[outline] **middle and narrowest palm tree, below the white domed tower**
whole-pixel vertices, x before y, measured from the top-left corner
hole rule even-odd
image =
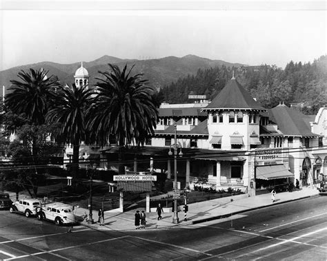
[[[92,90],[87,85],[77,88],[63,87],[57,90],[54,104],[46,117],[47,123],[60,123],[60,134],[73,146],[72,176],[77,178],[79,169],[79,146],[88,140],[86,135],[86,109],[92,104]]]

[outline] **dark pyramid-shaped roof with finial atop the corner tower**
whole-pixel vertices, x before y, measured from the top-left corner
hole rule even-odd
[[[213,109],[266,110],[235,79],[231,79],[212,102],[203,108],[204,111]]]

